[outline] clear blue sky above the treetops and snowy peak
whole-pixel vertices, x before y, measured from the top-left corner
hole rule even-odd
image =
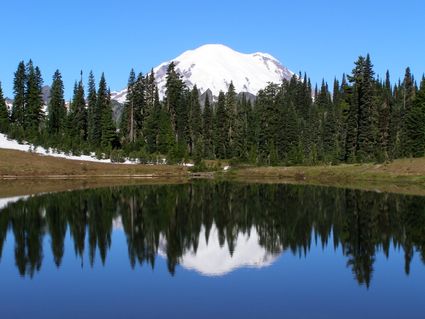
[[[313,82],[350,72],[370,53],[392,79],[425,72],[423,0],[3,0],[0,80],[12,95],[20,60],[33,59],[46,84],[59,68],[67,98],[83,70],[105,72],[122,89],[131,67],[146,72],[206,43],[263,51]]]

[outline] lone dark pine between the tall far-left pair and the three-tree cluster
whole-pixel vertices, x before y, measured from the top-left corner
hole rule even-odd
[[[64,129],[66,121],[64,85],[59,70],[56,70],[53,75],[48,110],[47,132],[52,135],[57,135]]]

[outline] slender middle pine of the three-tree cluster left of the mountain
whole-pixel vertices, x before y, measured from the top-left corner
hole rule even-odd
[[[87,96],[87,140],[90,145],[98,145],[98,127],[100,125],[97,111],[96,83],[90,71]]]

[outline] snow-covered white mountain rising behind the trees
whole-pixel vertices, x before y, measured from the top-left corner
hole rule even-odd
[[[176,71],[189,88],[196,84],[201,94],[209,89],[213,96],[218,96],[220,91],[226,92],[230,82],[236,92],[256,95],[269,82],[280,83],[293,75],[270,54],[245,54],[225,45],[207,44],[154,68],[161,98],[165,95],[166,72],[171,62],[176,64]],[[123,103],[126,94],[126,89],[113,92],[112,99]]]

